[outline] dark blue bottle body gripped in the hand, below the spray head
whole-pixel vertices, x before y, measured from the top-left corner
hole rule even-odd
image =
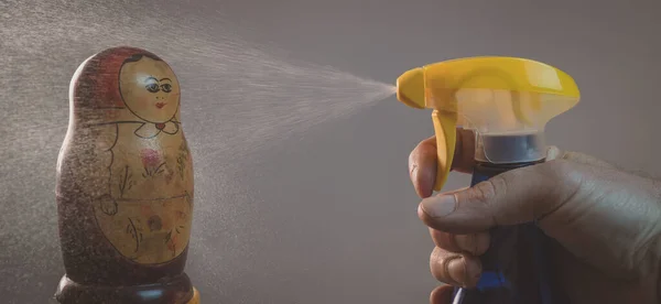
[[[470,186],[537,163],[478,163]],[[490,239],[489,249],[480,257],[483,274],[477,286],[455,289],[453,304],[570,304],[550,271],[548,253],[554,240],[537,222],[492,228]]]

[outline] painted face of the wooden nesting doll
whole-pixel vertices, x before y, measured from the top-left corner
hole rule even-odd
[[[127,59],[119,72],[119,90],[129,110],[144,121],[166,122],[178,110],[178,82],[163,61],[143,55]]]

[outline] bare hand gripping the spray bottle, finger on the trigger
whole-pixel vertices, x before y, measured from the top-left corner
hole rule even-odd
[[[453,171],[472,171],[474,146],[473,134],[457,130]],[[409,170],[423,198],[418,214],[436,245],[430,259],[433,275],[451,285],[475,286],[489,228],[537,219],[562,246],[551,259],[572,303],[661,303],[661,183],[556,148],[546,160],[431,197],[435,139],[413,150]],[[434,290],[431,303],[451,303],[451,285]]]

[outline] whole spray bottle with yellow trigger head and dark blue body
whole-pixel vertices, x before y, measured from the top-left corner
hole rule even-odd
[[[572,77],[550,65],[512,57],[462,58],[414,68],[397,80],[397,97],[434,109],[438,170],[435,191],[449,174],[456,128],[475,133],[472,186],[502,172],[543,162],[544,127],[579,100]],[[455,304],[570,303],[551,275],[552,239],[535,222],[491,231],[475,289],[456,289]]]

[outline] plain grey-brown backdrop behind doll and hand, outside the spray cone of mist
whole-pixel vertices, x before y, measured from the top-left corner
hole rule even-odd
[[[387,83],[411,67],[453,57],[511,55],[551,63],[576,78],[583,100],[549,124],[549,141],[661,173],[659,1],[126,2],[134,26],[150,7],[181,20],[220,13],[247,40]],[[26,39],[18,33],[30,31],[31,18],[57,18],[57,10],[39,11],[44,6],[29,1],[0,3],[0,116],[10,121],[0,127],[7,142],[0,149],[0,297],[43,303],[63,274],[53,176],[66,120],[54,117],[66,118],[66,86],[75,67],[105,45],[71,35]],[[52,1],[68,15],[110,6],[80,3]],[[178,26],[176,20],[165,15],[161,22]],[[213,36],[230,29],[218,26],[199,31]],[[124,41],[104,43],[115,42]],[[186,69],[176,52],[152,51],[175,70]],[[195,93],[189,95],[195,100]],[[203,142],[204,112],[186,109],[185,101],[183,107],[187,138]],[[391,97],[343,122],[232,161],[235,166],[223,158],[196,160],[199,207],[187,273],[203,302],[425,303],[436,285],[427,263],[433,245],[415,216],[419,198],[407,158],[432,132],[429,112]],[[467,182],[455,174],[447,188]]]

